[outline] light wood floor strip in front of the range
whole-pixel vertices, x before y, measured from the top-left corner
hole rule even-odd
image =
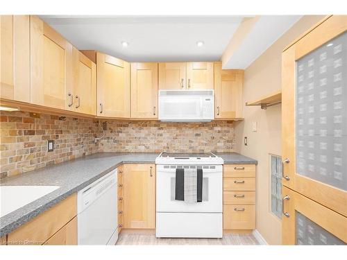
[[[223,239],[157,239],[153,231],[122,230],[116,245],[259,245],[252,233],[223,234]]]

